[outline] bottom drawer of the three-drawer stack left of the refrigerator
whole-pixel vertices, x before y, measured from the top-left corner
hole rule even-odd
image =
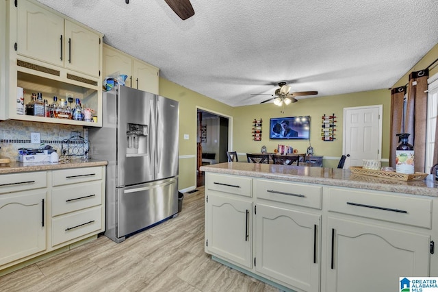
[[[52,219],[52,246],[102,228],[102,208],[96,206]]]

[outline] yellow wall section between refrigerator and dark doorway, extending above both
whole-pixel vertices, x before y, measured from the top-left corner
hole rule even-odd
[[[179,101],[179,190],[196,186],[196,109],[203,108],[233,116],[233,108],[195,93],[188,88],[159,78],[159,95]],[[184,134],[189,135],[184,140]]]

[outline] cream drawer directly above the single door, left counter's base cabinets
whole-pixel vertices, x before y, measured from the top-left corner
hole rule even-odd
[[[47,186],[47,172],[37,171],[28,173],[11,173],[0,175],[0,193],[45,188]]]

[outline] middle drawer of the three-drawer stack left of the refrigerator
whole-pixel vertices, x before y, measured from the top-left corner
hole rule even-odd
[[[102,182],[58,186],[52,191],[52,216],[102,204]]]

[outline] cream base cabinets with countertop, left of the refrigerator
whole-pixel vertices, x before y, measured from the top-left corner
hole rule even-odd
[[[0,165],[0,276],[105,230],[106,161]]]

